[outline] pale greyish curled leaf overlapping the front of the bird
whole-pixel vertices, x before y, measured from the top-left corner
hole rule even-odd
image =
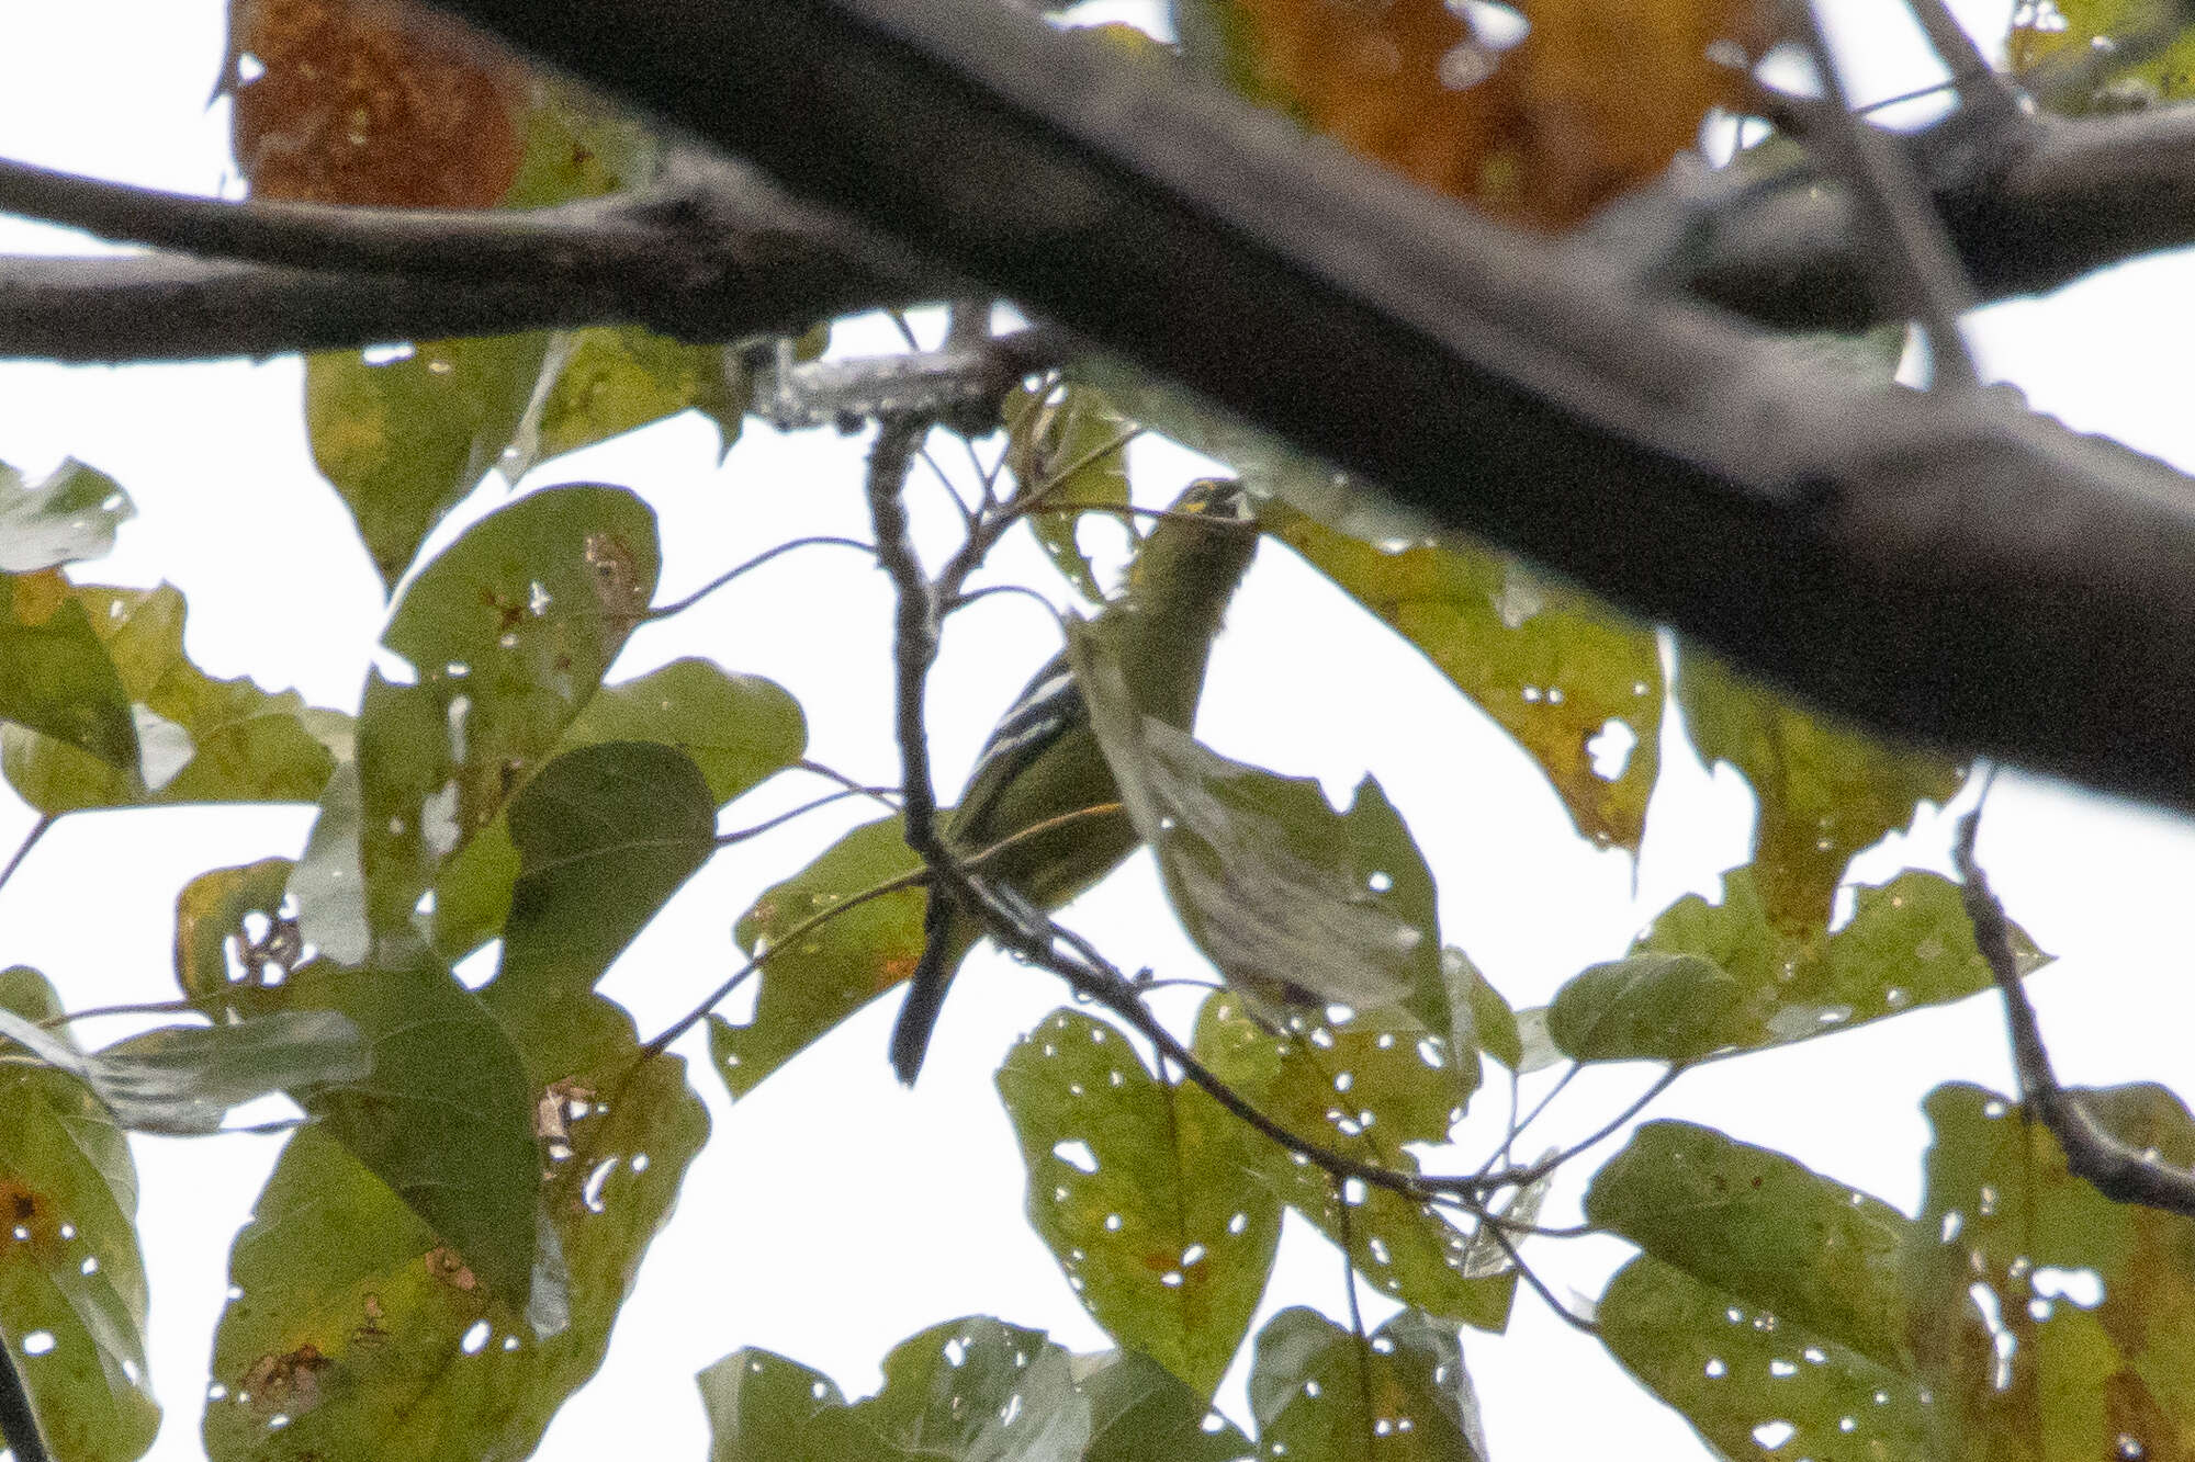
[[[1071,623],[1067,648],[1122,806],[1183,929],[1229,983],[1357,1008],[1422,994],[1427,968],[1440,983],[1438,931],[1405,909],[1418,891],[1363,856],[1396,823],[1370,777],[1337,814],[1315,779],[1231,762],[1141,713],[1102,623]]]

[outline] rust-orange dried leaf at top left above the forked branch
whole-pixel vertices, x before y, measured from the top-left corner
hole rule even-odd
[[[237,167],[259,198],[485,209],[522,154],[525,72],[389,0],[230,0]]]

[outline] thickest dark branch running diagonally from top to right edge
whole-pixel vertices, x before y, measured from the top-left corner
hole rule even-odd
[[[2162,463],[1780,360],[988,0],[443,4],[1828,709],[2195,806]]]

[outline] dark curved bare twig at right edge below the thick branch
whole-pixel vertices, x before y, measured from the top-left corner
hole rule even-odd
[[[2195,1172],[2166,1168],[2155,1157],[2127,1146],[2096,1122],[2079,1091],[2059,1084],[2050,1065],[2050,1047],[2044,1045],[2041,1023],[2035,1019],[2035,1005],[2019,983],[2019,961],[2013,957],[2004,904],[1989,891],[1989,878],[1973,861],[1980,819],[1982,812],[1975,808],[1958,821],[1951,861],[1965,880],[1973,942],[1989,961],[1989,975],[2004,997],[2004,1025],[2013,1045],[2013,1069],[2019,1073],[2019,1100],[2057,1137],[2065,1150],[2065,1168],[2094,1183],[2105,1199],[2195,1216]]]

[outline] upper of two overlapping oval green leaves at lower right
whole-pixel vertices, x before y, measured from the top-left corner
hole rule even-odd
[[[1585,1218],[1749,1306],[1905,1365],[1912,1221],[1782,1152],[1646,1122],[1594,1174]]]

